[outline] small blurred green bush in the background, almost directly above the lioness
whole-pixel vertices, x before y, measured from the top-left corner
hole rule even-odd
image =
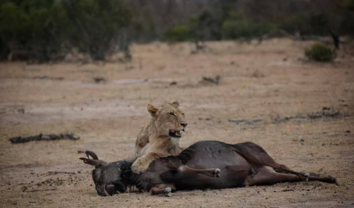
[[[193,40],[193,35],[188,26],[180,24],[170,30],[167,30],[165,33],[165,38],[169,41],[189,41]]]

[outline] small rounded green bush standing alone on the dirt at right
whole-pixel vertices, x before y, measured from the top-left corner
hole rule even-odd
[[[315,61],[332,61],[336,53],[329,47],[316,43],[310,49],[305,50],[305,55]]]

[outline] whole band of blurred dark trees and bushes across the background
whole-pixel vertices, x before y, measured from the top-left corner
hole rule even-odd
[[[354,35],[354,0],[0,0],[0,59],[92,60],[129,44]]]

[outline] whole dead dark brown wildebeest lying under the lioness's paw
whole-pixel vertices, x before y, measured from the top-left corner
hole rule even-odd
[[[103,196],[122,192],[131,185],[158,194],[171,190],[225,189],[299,180],[336,183],[336,178],[331,176],[295,172],[278,164],[252,142],[234,145],[220,141],[196,142],[178,156],[155,159],[142,174],[132,173],[130,163],[126,161],[105,163],[97,156],[80,159],[96,166],[92,176],[97,193]]]

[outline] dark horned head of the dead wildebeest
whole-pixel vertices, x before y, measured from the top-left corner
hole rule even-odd
[[[81,157],[84,163],[94,165],[92,179],[95,182],[97,194],[100,196],[113,195],[125,192],[129,183],[128,175],[131,174],[130,166],[132,163],[127,161],[116,161],[106,163],[98,159],[92,151],[85,151],[87,158]],[[93,159],[90,159],[91,156]]]

